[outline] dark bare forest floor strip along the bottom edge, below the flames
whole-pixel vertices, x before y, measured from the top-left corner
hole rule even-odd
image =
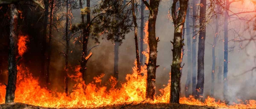
[[[39,106],[27,105],[22,103],[11,103],[11,104],[1,104],[0,109],[56,109],[56,108],[42,108]],[[61,108],[65,109],[65,108]],[[76,108],[71,108],[76,109]],[[214,108],[208,106],[195,106],[186,104],[123,104],[123,105],[111,105],[103,106],[98,108],[79,108],[79,109],[223,109]]]

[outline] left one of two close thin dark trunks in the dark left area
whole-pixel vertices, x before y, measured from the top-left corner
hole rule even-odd
[[[44,12],[44,30],[42,39],[42,51],[41,51],[41,80],[45,83],[45,51],[46,51],[46,33],[47,33],[47,23],[48,23],[48,3],[49,0],[44,0],[45,12]]]

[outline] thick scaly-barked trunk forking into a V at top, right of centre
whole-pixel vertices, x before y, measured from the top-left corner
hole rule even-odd
[[[180,10],[176,13],[177,2],[180,1]],[[180,78],[181,78],[181,49],[184,45],[182,43],[182,31],[184,28],[186,13],[188,7],[188,0],[173,0],[172,18],[174,23],[174,39],[173,39],[173,62],[171,69],[171,94],[170,103],[180,103]]]

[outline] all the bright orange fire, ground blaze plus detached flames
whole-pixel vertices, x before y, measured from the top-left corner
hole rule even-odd
[[[145,30],[146,29],[147,28],[145,28]],[[145,33],[146,32],[147,31],[145,31]],[[19,46],[23,47],[19,49],[19,53],[22,51],[25,52],[26,42],[28,42],[28,40],[19,40],[19,42],[25,42],[21,44],[24,46]],[[74,70],[76,74],[68,75],[72,81],[76,81],[76,84],[73,87],[72,93],[66,96],[64,92],[50,91],[47,88],[41,88],[38,79],[34,78],[32,73],[30,73],[30,69],[26,68],[24,65],[19,65],[17,66],[18,74],[15,102],[50,108],[95,108],[106,105],[124,104],[127,102],[138,104],[145,100],[145,102],[148,103],[169,103],[171,80],[169,80],[165,88],[160,90],[161,94],[157,96],[154,101],[149,101],[145,98],[147,66],[141,66],[141,73],[144,73],[144,76],[138,74],[135,66],[132,68],[133,73],[127,74],[125,77],[126,82],[121,84],[121,88],[119,89],[115,88],[117,80],[114,77],[110,77],[108,81],[108,84],[111,86],[110,89],[107,89],[106,86],[101,86],[100,84],[104,74],[94,77],[94,81],[88,85],[84,84],[82,73],[79,72],[80,66],[76,66]],[[0,104],[3,104],[5,101],[5,88],[5,85],[0,84]],[[245,102],[241,100],[238,101],[240,104],[233,103],[233,105],[226,105],[225,102],[221,102],[220,100],[216,101],[215,98],[211,97],[207,97],[204,102],[196,100],[192,96],[180,98],[181,104],[188,105],[234,109],[256,108],[255,100]]]

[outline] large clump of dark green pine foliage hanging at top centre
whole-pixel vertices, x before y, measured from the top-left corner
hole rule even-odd
[[[101,37],[121,45],[133,24],[131,9],[128,8],[124,7],[123,0],[101,0],[93,10],[96,16],[92,23],[92,38],[97,43]]]

